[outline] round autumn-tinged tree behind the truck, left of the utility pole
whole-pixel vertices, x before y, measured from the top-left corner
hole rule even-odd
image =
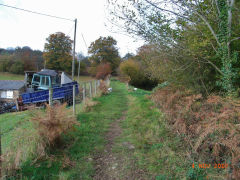
[[[51,34],[46,40],[43,53],[46,67],[71,72],[73,41],[70,37],[62,32],[57,32]]]

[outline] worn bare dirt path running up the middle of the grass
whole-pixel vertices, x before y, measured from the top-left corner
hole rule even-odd
[[[115,140],[121,135],[122,128],[120,122],[126,118],[126,113],[120,119],[113,122],[107,132],[105,139],[107,144],[103,153],[98,154],[94,158],[96,174],[93,177],[95,180],[141,180],[144,178],[144,172],[136,168],[134,160],[131,158],[131,152],[134,151],[134,146],[129,142],[123,142],[120,144],[123,148],[129,151],[129,154],[123,154],[114,152],[114,146],[119,148],[119,144],[116,145]]]

